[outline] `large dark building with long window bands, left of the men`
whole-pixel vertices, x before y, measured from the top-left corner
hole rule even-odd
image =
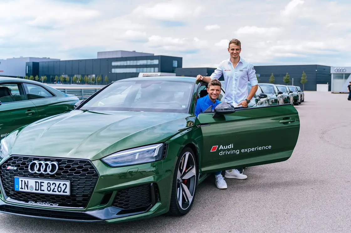
[[[124,54],[127,56],[122,57]],[[83,80],[85,76],[90,80],[101,76],[102,80],[98,84],[106,84],[120,79],[138,77],[139,73],[142,72],[155,73],[155,75],[161,72],[174,73],[175,75],[176,69],[183,65],[181,57],[155,56],[153,54],[145,56],[144,53],[134,51],[99,52],[99,57],[95,59],[28,62],[26,75],[28,77],[31,75],[46,76],[46,83],[54,83],[56,76],[69,77],[70,81],[64,81],[64,83],[73,83],[74,76],[81,78],[80,83],[85,83]],[[105,82],[106,76],[107,82]]]

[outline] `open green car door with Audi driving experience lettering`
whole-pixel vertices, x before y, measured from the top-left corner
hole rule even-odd
[[[203,172],[285,161],[296,146],[300,120],[290,104],[247,108],[213,118],[198,116]]]

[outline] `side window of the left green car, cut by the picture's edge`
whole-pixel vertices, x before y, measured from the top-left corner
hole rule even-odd
[[[2,104],[26,100],[21,84],[0,84],[0,101]]]

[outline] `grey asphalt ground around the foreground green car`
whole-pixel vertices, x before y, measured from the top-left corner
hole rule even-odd
[[[247,168],[248,178],[226,179],[226,190],[207,178],[186,216],[108,225],[0,213],[0,232],[350,232],[351,101],[305,92],[296,109],[301,128],[289,160]]]

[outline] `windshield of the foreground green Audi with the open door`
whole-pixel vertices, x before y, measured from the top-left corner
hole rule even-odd
[[[188,113],[193,86],[163,80],[115,82],[80,109]]]

